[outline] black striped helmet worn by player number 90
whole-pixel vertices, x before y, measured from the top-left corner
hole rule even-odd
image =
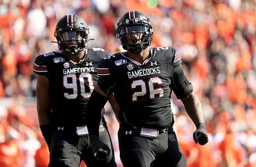
[[[76,57],[88,47],[88,34],[86,22],[75,14],[69,14],[58,21],[54,36],[60,51]]]

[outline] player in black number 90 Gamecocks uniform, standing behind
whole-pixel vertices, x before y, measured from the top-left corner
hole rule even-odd
[[[78,167],[81,160],[88,167],[116,166],[103,106],[98,132],[108,148],[102,150],[104,159],[100,151],[93,155],[90,147],[94,141],[88,136],[86,106],[99,78],[97,64],[110,53],[100,48],[88,49],[88,34],[87,23],[81,17],[63,16],[54,33],[60,52],[39,55],[34,62],[38,121],[50,151],[49,166]],[[115,102],[113,98],[110,101]]]

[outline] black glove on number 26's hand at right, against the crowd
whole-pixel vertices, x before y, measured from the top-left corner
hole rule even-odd
[[[199,145],[203,146],[209,141],[205,124],[199,123],[196,125],[196,127],[197,130],[193,133],[194,141],[196,142],[196,144],[199,143]]]

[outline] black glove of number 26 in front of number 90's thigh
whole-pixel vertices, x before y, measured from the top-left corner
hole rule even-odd
[[[96,135],[90,135],[90,145],[93,151],[93,155],[98,160],[104,160],[110,155],[110,148],[99,140]]]

